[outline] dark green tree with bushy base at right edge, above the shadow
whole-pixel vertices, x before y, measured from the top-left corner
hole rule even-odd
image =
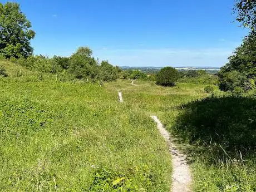
[[[244,91],[255,88],[256,77],[256,34],[254,31],[245,37],[242,45],[236,48],[229,62],[221,67],[220,89],[232,91],[235,87],[243,88]]]

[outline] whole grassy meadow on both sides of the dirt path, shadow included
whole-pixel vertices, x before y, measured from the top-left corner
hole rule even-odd
[[[206,93],[200,81],[100,86],[0,65],[0,191],[169,191],[171,157],[151,115],[189,154],[193,191],[256,191],[253,97],[215,83]]]

